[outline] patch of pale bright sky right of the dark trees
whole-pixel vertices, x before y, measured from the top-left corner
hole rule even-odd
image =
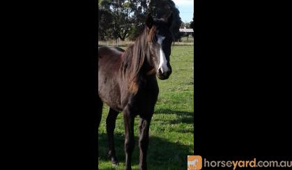
[[[194,13],[194,0],[172,0],[180,11],[180,18],[183,22],[191,22]]]

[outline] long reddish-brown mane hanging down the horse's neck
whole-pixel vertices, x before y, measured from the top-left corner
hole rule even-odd
[[[154,25],[151,29],[146,27],[135,43],[123,53],[121,72],[123,77],[128,80],[128,90],[131,93],[136,94],[138,91],[141,68],[146,57],[150,55],[148,42],[155,42],[155,31],[156,26]]]

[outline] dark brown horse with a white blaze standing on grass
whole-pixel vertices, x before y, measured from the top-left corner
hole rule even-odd
[[[118,165],[114,147],[116,117],[123,111],[125,127],[125,169],[131,168],[135,147],[134,120],[139,115],[139,169],[147,169],[149,126],[157,102],[159,79],[171,75],[169,56],[172,33],[169,30],[172,13],[165,18],[146,15],[144,31],[133,45],[123,50],[118,47],[98,48],[98,127],[102,105],[109,106],[106,120],[109,152],[113,165]]]

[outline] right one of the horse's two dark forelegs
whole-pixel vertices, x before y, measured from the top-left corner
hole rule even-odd
[[[139,148],[140,148],[140,160],[139,167],[140,170],[147,169],[147,150],[149,144],[149,127],[151,118],[140,118],[139,123]]]

